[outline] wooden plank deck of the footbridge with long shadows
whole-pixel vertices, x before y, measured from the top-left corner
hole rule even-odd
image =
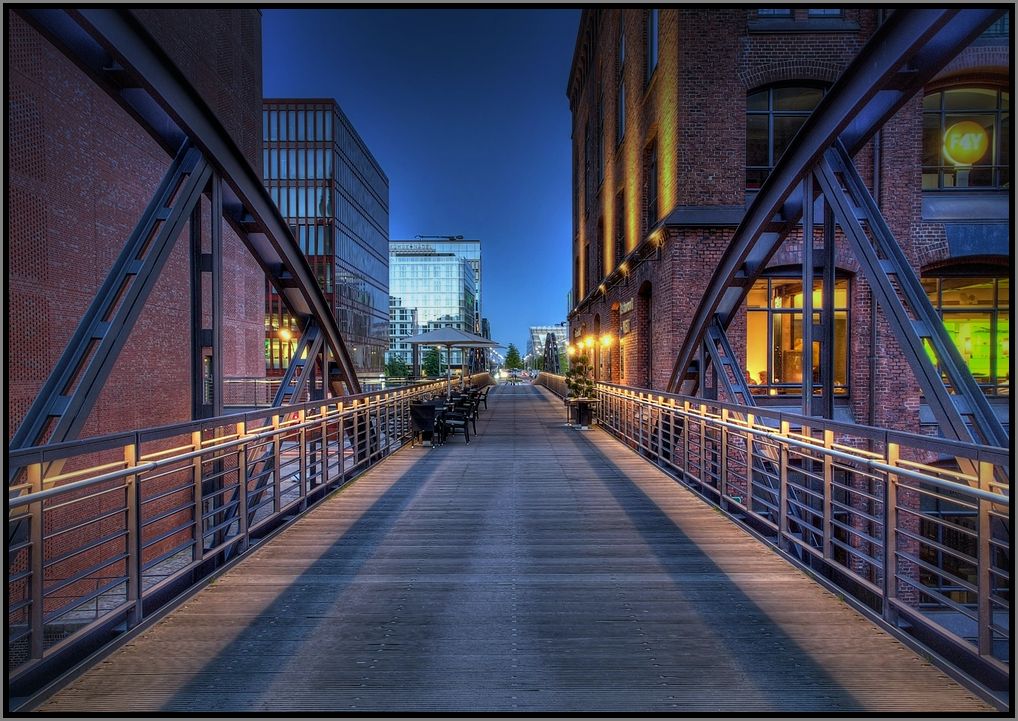
[[[547,390],[489,405],[38,710],[993,710]]]

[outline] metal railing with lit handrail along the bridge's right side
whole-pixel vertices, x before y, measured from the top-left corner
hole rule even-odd
[[[561,376],[538,382],[563,395]],[[597,396],[603,429],[861,610],[1010,683],[1008,449],[606,383]]]

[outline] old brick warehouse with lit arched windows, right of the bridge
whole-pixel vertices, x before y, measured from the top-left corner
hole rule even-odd
[[[569,330],[572,341],[611,336],[604,348],[595,346],[599,378],[666,388],[690,319],[754,192],[882,12],[583,12],[567,89]],[[855,157],[1005,424],[1013,271],[1009,32],[1010,14]],[[959,160],[951,156],[951,136],[966,128],[979,138],[977,157]],[[801,407],[801,230],[789,235],[728,330],[759,404]],[[835,415],[918,430],[931,421],[918,384],[881,313],[871,315],[869,288],[840,239],[835,265]]]

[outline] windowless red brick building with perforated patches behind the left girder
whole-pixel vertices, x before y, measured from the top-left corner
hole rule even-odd
[[[92,78],[6,12],[10,438],[171,159]],[[261,13],[130,12],[261,168]],[[226,224],[223,235],[224,372],[263,377],[264,273]],[[174,244],[81,437],[191,418],[187,236]]]

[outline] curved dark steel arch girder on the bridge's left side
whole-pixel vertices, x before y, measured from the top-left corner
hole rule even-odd
[[[253,168],[156,42],[127,10],[16,10],[130,113],[170,154],[188,141],[222,177],[223,217],[279,292],[287,311],[314,319],[338,365],[336,395],[359,393],[353,362],[325,293]]]

